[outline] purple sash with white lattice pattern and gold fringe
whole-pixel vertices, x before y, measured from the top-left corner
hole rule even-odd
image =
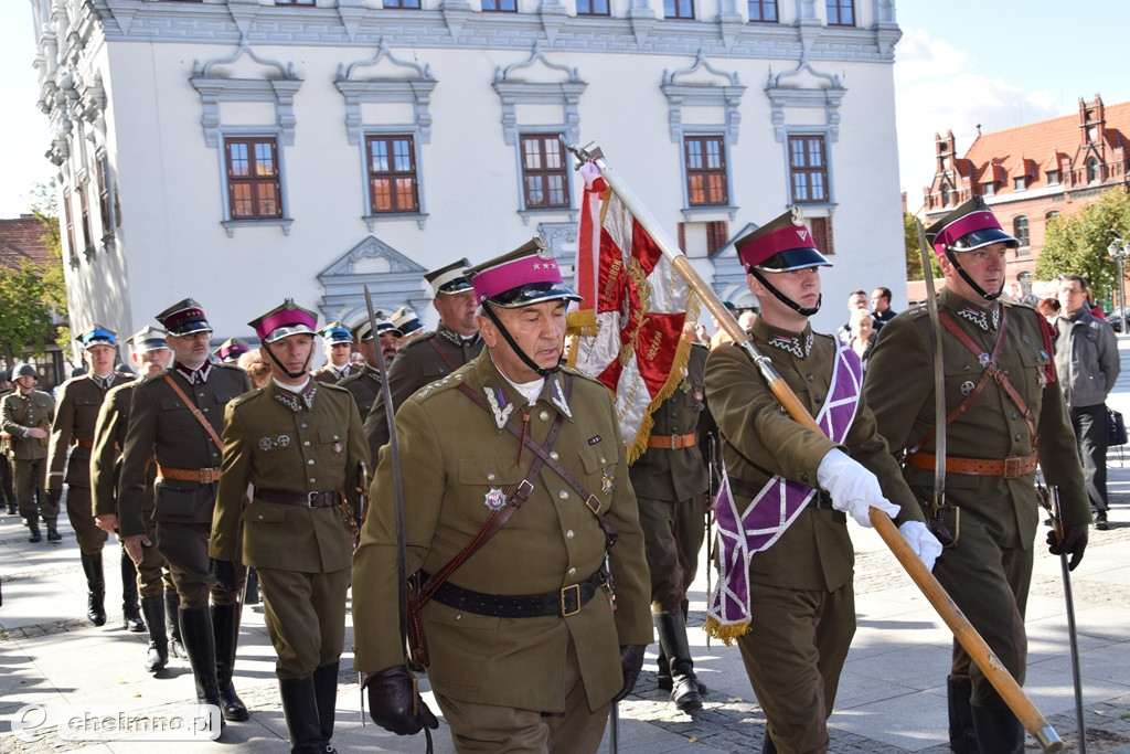
[[[816,416],[820,430],[837,443],[843,442],[855,421],[862,382],[859,356],[837,340],[832,395]],[[709,634],[729,644],[748,631],[749,558],[780,539],[815,495],[816,489],[808,485],[774,476],[749,506],[740,511],[730,489],[730,478],[722,470],[722,488],[714,500],[721,573],[706,609],[704,629]]]

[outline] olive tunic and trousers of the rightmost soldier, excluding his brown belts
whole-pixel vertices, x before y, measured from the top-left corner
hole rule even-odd
[[[938,305],[985,354],[991,354],[997,344],[1000,312],[1007,312],[1008,331],[998,365],[1036,417],[1040,466],[1046,480],[1059,486],[1063,522],[1067,526],[1089,522],[1090,505],[1063,395],[1058,384],[1042,378],[1051,354],[1044,344],[1041,315],[1026,306],[1000,303],[985,306],[984,301],[966,301],[949,289],[942,291]],[[973,317],[983,314],[986,329],[963,318],[963,311]],[[879,431],[896,453],[918,443],[935,426],[930,330],[925,307],[904,312],[883,328],[868,365],[867,398]],[[984,367],[977,355],[945,328],[941,339],[949,413],[977,383]],[[1024,416],[992,380],[968,409],[946,427],[946,444],[950,458],[1000,460],[1028,456],[1036,449]],[[922,450],[933,453],[933,440]],[[903,474],[920,500],[931,500],[932,469],[907,466]],[[1005,479],[947,474],[946,502],[960,509],[960,526],[950,508],[945,521],[957,543],[946,549],[935,575],[1023,683],[1027,655],[1024,610],[1032,577],[1032,545],[1041,518],[1033,475]],[[967,664],[968,658],[955,643],[955,675],[964,675]],[[999,697],[980,671],[974,667],[968,673],[974,684],[973,701],[999,705]]]

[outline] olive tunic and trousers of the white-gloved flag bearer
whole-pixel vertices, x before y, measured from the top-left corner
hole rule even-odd
[[[827,400],[836,339],[788,332],[757,319],[757,349],[812,416]],[[782,336],[802,355],[771,345]],[[805,344],[811,345],[806,349]],[[725,470],[739,509],[773,475],[816,486],[816,469],[840,448],[873,473],[901,506],[896,523],[922,520],[863,397],[842,445],[784,413],[746,352],[723,345],[706,363],[706,397],[722,435]],[[815,501],[814,501],[815,502]],[[750,632],[738,640],[746,671],[781,751],[825,752],[840,673],[855,631],[854,553],[844,513],[806,506],[781,538],[749,558]]]

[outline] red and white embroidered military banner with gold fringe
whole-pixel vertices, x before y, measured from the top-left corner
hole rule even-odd
[[[584,201],[570,313],[570,365],[616,393],[628,462],[647,447],[651,414],[683,380],[690,341],[683,327],[698,318],[690,286],[600,176],[581,167]]]

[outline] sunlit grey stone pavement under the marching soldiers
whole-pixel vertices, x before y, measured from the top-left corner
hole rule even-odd
[[[1130,365],[1130,338],[1120,337],[1123,364]],[[1130,370],[1130,366],[1128,366]],[[1130,417],[1130,373],[1119,381],[1112,407]],[[1130,447],[1128,447],[1130,450]],[[1128,459],[1130,462],[1130,459]],[[1076,622],[1089,752],[1130,752],[1130,465],[1110,456],[1109,531],[1092,531],[1090,545],[1072,573]],[[66,517],[64,517],[66,518]],[[844,667],[831,719],[833,752],[940,754],[946,745],[946,671],[950,635],[918,588],[897,566],[878,536],[854,525],[859,629]],[[0,517],[0,752],[151,752],[157,745],[118,740],[64,740],[55,730],[62,705],[105,704],[127,709],[169,709],[193,701],[188,664],[154,678],[145,673],[146,634],[121,625],[121,583],[116,547],[106,549],[106,625],[85,619],[85,580],[68,526],[52,545],[27,543],[16,517]],[[1040,537],[1043,538],[1043,535]],[[113,556],[111,556],[113,553]],[[705,708],[694,717],[678,713],[655,688],[654,649],[647,655],[636,692],[620,704],[619,749],[663,752],[758,751],[765,718],[749,687],[737,648],[706,645],[702,625],[706,599],[703,573],[694,586],[690,641],[699,677],[710,686]],[[1028,600],[1029,665],[1025,690],[1049,719],[1064,751],[1077,751],[1075,696],[1059,560],[1037,546]],[[353,625],[346,636],[348,648]],[[342,657],[333,743],[342,752],[423,752],[424,738],[399,738],[360,725],[351,655]],[[235,685],[252,710],[251,720],[231,723],[221,743],[163,743],[162,754],[221,751],[285,752],[286,726],[273,674],[273,650],[261,606],[244,609]],[[428,699],[431,695],[428,695]],[[26,704],[46,710],[45,733],[25,742],[11,733],[15,713]],[[437,710],[434,702],[432,709]],[[441,721],[435,751],[453,751]],[[1037,751],[1029,738],[1028,749]],[[229,749],[232,751],[232,749]]]

